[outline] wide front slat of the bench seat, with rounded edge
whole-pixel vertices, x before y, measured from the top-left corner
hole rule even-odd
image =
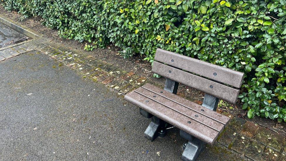
[[[213,145],[219,135],[219,132],[166,108],[135,91],[125,95],[124,99],[208,144]],[[148,102],[146,102],[147,100]],[[188,121],[191,121],[191,123],[188,123]]]

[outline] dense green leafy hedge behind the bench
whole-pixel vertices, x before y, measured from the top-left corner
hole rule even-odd
[[[248,117],[286,121],[286,0],[0,0],[41,16],[62,37],[114,43],[124,57],[163,48],[246,73],[239,96]]]

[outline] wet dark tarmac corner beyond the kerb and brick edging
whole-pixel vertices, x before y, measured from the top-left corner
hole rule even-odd
[[[0,23],[0,48],[28,40],[25,35]]]

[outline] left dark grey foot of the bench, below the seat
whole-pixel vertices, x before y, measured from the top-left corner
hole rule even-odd
[[[154,141],[158,136],[163,138],[166,136],[166,122],[160,118],[153,116],[151,118],[151,123],[144,132],[145,138],[150,141]]]

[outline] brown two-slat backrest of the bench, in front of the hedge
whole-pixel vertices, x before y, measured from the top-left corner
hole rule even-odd
[[[244,78],[242,72],[159,48],[152,72],[232,104]]]

